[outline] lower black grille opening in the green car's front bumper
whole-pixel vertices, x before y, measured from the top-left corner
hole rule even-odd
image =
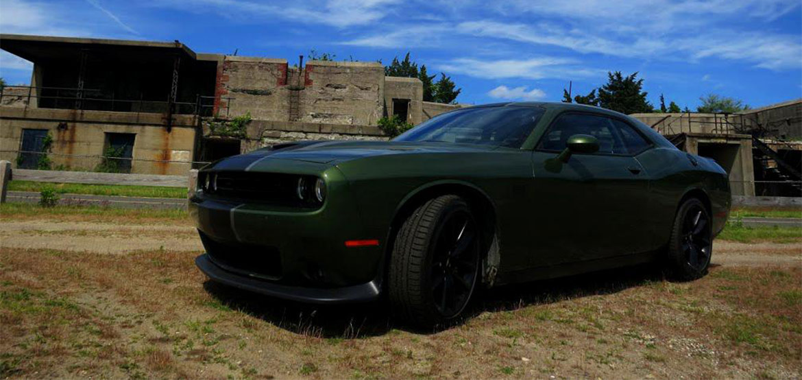
[[[277,280],[282,277],[282,257],[275,247],[213,241],[201,233],[206,253],[221,268],[250,277]]]

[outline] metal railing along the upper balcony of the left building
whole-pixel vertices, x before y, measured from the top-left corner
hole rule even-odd
[[[220,102],[217,102],[220,99]],[[71,87],[5,86],[0,88],[0,104],[24,107],[56,108],[85,111],[120,111],[136,113],[168,113],[173,115],[217,116],[229,115],[233,98],[195,95],[195,101],[171,101],[146,98],[119,99],[115,91]],[[34,100],[35,105],[31,105]],[[225,101],[225,103],[224,103]],[[217,104],[216,104],[217,103]],[[217,115],[213,115],[217,108]]]

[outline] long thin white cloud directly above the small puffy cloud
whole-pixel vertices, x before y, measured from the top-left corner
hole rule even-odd
[[[470,75],[484,79],[541,79],[591,77],[606,71],[578,66],[573,59],[540,57],[533,59],[481,60],[458,58],[436,65],[441,71]]]

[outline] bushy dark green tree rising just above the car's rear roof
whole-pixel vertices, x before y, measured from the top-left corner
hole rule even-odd
[[[607,84],[598,89],[600,107],[618,111],[622,114],[651,112],[653,107],[646,100],[646,91],[642,91],[643,79],[636,79],[638,72],[626,77],[621,71],[608,72]]]

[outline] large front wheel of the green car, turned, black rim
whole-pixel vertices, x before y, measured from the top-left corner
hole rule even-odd
[[[459,196],[438,196],[416,208],[399,228],[391,253],[394,316],[419,327],[459,318],[480,281],[480,236]]]

